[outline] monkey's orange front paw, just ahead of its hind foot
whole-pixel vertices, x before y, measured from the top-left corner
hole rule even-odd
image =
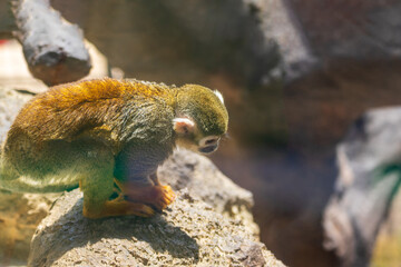
[[[129,187],[129,200],[151,205],[157,210],[165,209],[175,199],[175,194],[169,186]]]

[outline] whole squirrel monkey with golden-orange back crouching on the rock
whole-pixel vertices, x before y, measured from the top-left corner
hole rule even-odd
[[[19,112],[1,148],[0,187],[80,187],[84,216],[151,216],[174,200],[157,167],[176,145],[217,149],[228,113],[218,91],[114,79],[62,85]],[[111,198],[116,189],[117,198]]]

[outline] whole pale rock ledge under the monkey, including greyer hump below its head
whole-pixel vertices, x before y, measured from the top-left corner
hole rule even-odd
[[[66,192],[41,221],[29,266],[284,266],[257,240],[251,192],[205,157],[177,151],[160,168],[177,199],[151,218],[90,220]]]

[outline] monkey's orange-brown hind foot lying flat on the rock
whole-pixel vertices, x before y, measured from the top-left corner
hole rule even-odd
[[[138,202],[130,202],[121,199],[114,199],[106,201],[100,211],[96,212],[90,207],[84,205],[84,216],[91,219],[124,216],[124,215],[136,215],[140,217],[150,217],[155,214],[155,210],[145,205]]]

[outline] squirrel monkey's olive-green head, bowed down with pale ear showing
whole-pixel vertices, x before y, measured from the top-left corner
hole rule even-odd
[[[217,149],[227,127],[228,113],[218,91],[196,85],[177,89],[173,128],[178,146],[211,154]]]

